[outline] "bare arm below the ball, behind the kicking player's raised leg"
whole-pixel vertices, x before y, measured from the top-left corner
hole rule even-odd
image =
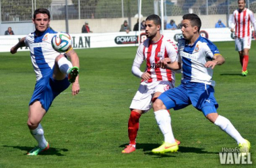
[[[70,59],[73,67],[79,67],[79,58],[75,50],[71,49],[65,53]],[[79,75],[75,78],[75,82],[72,84],[72,95],[77,95],[80,91]]]

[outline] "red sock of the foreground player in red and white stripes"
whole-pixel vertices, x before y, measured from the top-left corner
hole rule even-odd
[[[131,111],[131,115],[128,121],[128,136],[130,144],[136,144],[135,139],[139,130],[139,118],[141,114]]]

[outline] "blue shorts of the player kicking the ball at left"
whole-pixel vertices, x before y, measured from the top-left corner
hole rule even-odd
[[[29,106],[36,100],[40,101],[42,107],[46,112],[49,110],[51,104],[53,103],[53,99],[59,95],[62,91],[69,87],[70,83],[65,79],[58,81],[53,79],[53,69],[51,73],[45,75],[39,81],[36,82],[34,87],[34,93],[30,99]]]

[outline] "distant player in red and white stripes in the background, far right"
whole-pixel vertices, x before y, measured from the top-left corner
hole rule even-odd
[[[238,0],[238,9],[232,16],[231,32],[235,30],[235,47],[243,67],[242,75],[247,76],[249,50],[251,48],[251,24],[256,32],[256,19],[253,12],[245,7],[245,0]]]

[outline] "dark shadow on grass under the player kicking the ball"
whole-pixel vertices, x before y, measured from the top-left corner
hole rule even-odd
[[[13,148],[13,149],[20,149],[21,151],[26,151],[26,153],[24,155],[27,155],[27,153],[33,149],[31,146],[7,146],[7,145],[3,145],[3,147]],[[56,148],[50,147],[47,151],[43,151],[39,155],[57,155],[59,157],[65,156],[65,155],[60,153],[61,151],[67,152],[69,150],[67,150],[67,149],[56,149]]]

